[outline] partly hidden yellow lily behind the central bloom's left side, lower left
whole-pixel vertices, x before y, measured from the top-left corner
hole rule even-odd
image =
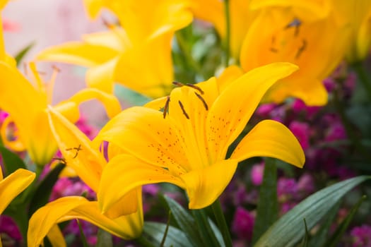
[[[102,169],[107,165],[105,157],[92,147],[84,133],[59,112],[50,108],[47,116],[66,165],[97,192]],[[28,246],[40,246],[42,239],[54,230],[56,224],[76,218],[84,219],[123,239],[134,239],[140,236],[143,228],[141,187],[134,188],[117,203],[117,207],[105,212],[105,215],[97,201],[88,201],[81,196],[68,196],[48,203],[30,219]]]

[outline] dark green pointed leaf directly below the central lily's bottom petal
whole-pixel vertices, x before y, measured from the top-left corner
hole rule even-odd
[[[184,234],[187,234],[189,241],[191,241],[194,246],[203,246],[199,234],[200,231],[198,231],[196,222],[192,215],[190,215],[187,210],[184,210],[184,208],[175,200],[172,200],[166,195],[164,198],[172,212],[172,217],[174,217],[175,222],[177,222],[179,228],[184,232]]]

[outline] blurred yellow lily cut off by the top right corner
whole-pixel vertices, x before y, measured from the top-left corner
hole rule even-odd
[[[339,20],[349,25],[346,59],[353,63],[365,59],[371,47],[371,1],[334,1],[334,9]]]

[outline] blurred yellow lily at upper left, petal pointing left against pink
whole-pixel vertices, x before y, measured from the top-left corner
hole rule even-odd
[[[192,22],[187,1],[90,0],[86,7],[93,17],[109,8],[121,27],[107,24],[107,32],[50,47],[36,59],[86,66],[88,86],[105,92],[113,92],[117,82],[148,97],[167,95],[173,80],[172,36]]]

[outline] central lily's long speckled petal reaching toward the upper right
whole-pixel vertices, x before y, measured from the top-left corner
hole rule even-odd
[[[208,112],[206,138],[212,160],[224,159],[228,146],[245,128],[266,91],[298,66],[275,63],[255,68],[220,93]]]

